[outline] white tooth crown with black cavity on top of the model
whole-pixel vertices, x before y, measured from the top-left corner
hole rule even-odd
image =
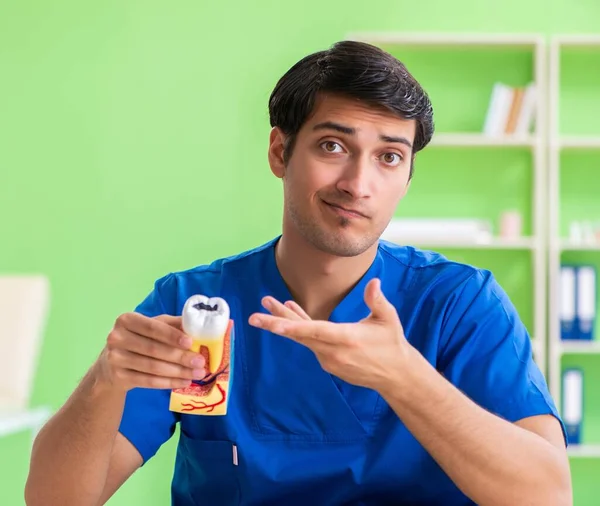
[[[191,296],[183,306],[183,331],[192,339],[222,339],[229,324],[229,305],[220,297]]]

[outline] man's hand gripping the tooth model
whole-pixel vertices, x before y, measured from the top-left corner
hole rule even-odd
[[[184,388],[206,375],[204,357],[189,351],[191,344],[181,317],[122,314],[96,364],[99,379],[125,392],[135,387]]]

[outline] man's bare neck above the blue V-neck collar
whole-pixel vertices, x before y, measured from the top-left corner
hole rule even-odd
[[[293,232],[284,232],[275,257],[294,300],[311,318],[327,320],[367,272],[376,252],[374,244],[358,256],[338,257],[317,250]]]

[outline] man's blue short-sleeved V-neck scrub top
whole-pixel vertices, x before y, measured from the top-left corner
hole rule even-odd
[[[144,463],[180,424],[172,504],[474,504],[377,392],[323,371],[306,347],[248,325],[252,313],[265,312],[265,295],[292,298],[275,263],[278,239],[171,273],[137,307],[147,316],[180,315],[186,299],[201,293],[226,299],[235,322],[226,416],[173,413],[168,390],[128,393],[120,431]],[[374,277],[410,343],[471,399],[509,421],[558,418],[527,330],[489,272],[380,241],[331,321],[369,314],[363,295]]]

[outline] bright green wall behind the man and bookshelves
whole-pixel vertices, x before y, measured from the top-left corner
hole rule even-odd
[[[155,278],[278,233],[281,192],[266,163],[266,104],[298,58],[351,31],[592,33],[600,18],[595,0],[429,0],[422,6],[406,0],[0,1],[0,271],[43,272],[52,283],[33,404],[64,402],[115,317],[133,308]],[[460,68],[481,78],[477,67]],[[447,105],[444,89],[443,82],[432,83],[432,96]],[[454,125],[482,119],[488,97],[463,98],[448,117],[438,117],[440,129],[450,116]],[[509,204],[525,209],[531,180],[519,167],[529,164],[526,152],[469,155],[475,166],[506,157],[513,175],[503,184],[520,178],[506,201],[477,197],[481,174],[468,187],[453,184],[439,167],[452,163],[446,156],[453,155],[423,153],[429,162],[420,164],[413,187],[422,185],[420,194],[450,184],[461,195],[452,209],[457,214],[469,190],[475,212],[495,217]],[[426,172],[432,166],[436,177]],[[436,199],[409,196],[405,204],[414,205],[404,208],[408,215],[442,210]],[[217,219],[205,220],[209,213]],[[186,237],[190,225],[194,237]],[[510,285],[517,276],[517,286],[522,274],[515,271],[529,272],[527,258],[498,255],[494,265],[516,266],[505,268],[501,281]],[[529,324],[530,298],[516,288],[511,295]],[[174,447],[173,440],[111,506],[168,504]],[[27,452],[25,434],[0,440],[2,505],[24,502]],[[596,504],[600,462],[574,461],[573,471],[576,504]]]

